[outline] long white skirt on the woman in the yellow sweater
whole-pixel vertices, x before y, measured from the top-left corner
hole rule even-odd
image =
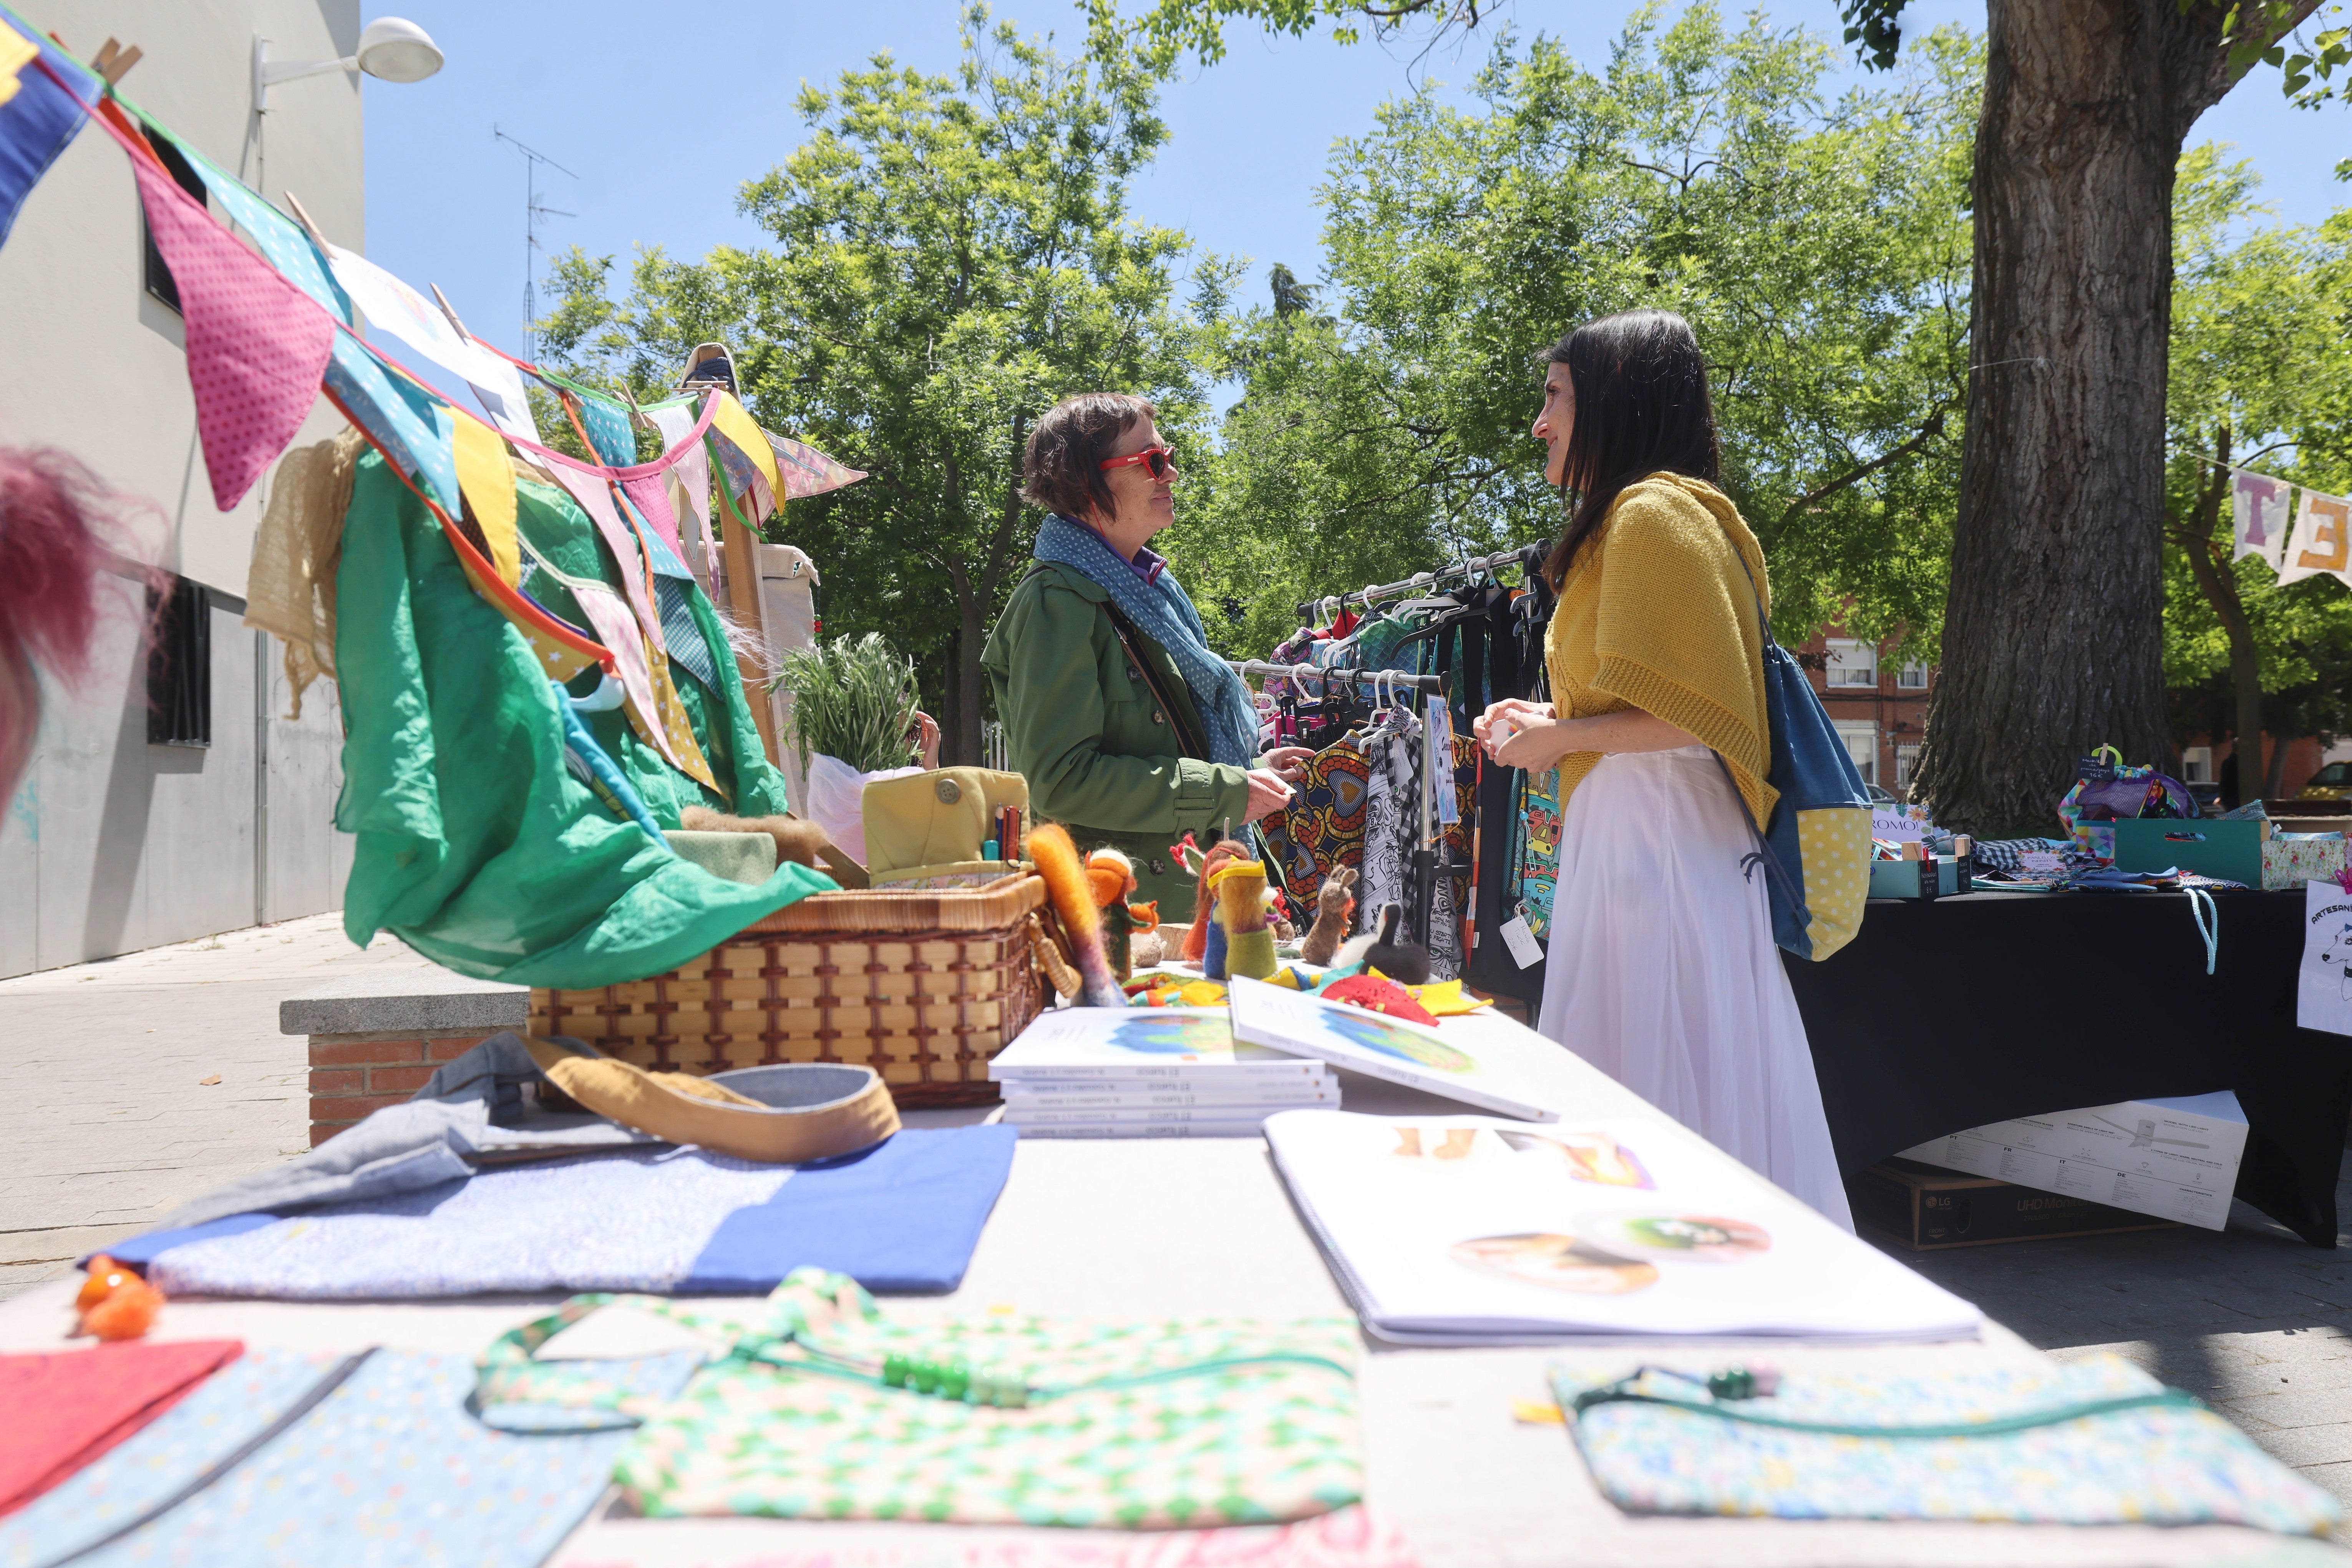
[[[1846,1229],[1813,1051],[1731,780],[1703,745],[1604,757],[1559,832],[1541,1027]]]

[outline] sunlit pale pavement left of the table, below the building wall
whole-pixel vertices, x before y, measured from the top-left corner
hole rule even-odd
[[[383,964],[426,959],[310,914],[0,980],[0,1300],[308,1150],[308,1044],[278,1001]]]

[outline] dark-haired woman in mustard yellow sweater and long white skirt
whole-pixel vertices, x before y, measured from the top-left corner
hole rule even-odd
[[[1740,867],[1748,816],[1773,809],[1757,623],[1771,588],[1715,487],[1691,324],[1628,310],[1562,339],[1536,440],[1576,498],[1543,564],[1559,592],[1552,701],[1496,703],[1475,729],[1505,766],[1559,766],[1541,1027],[1851,1229],[1764,882]]]

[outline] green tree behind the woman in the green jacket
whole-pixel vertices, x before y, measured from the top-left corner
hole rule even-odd
[[[774,235],[701,263],[640,254],[628,296],[612,259],[560,261],[543,341],[560,364],[652,393],[687,348],[727,339],[753,414],[870,477],[793,503],[783,536],[826,574],[830,630],[882,630],[946,689],[943,757],[978,759],[981,642],[1028,557],[1021,451],[1077,390],[1160,402],[1174,437],[1204,418],[1202,322],[1230,268],[1127,216],[1127,181],[1167,139],[1155,78],[1131,59],[1073,61],[983,7],[953,78],[877,54],[804,87],[809,141],[746,186]]]

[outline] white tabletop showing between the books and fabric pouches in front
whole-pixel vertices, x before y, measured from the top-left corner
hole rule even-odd
[[[1503,1053],[1564,1119],[1653,1117],[1672,1138],[1696,1133],[1571,1053],[1494,1016],[1449,1020]],[[1343,1074],[1345,1107],[1381,1114],[1456,1114],[1465,1107]],[[915,1117],[934,1121],[948,1117]],[[1752,1178],[1762,1180],[1762,1178]],[[75,1281],[54,1281],[0,1305],[0,1349],[64,1342]],[[482,1298],[430,1305],[174,1302],[158,1338],[242,1338],[301,1349],[477,1352],[496,1333],[557,1298]],[[1030,1140],[1014,1154],[971,1272],[953,1295],[894,1298],[894,1314],[983,1312],[990,1305],[1084,1316],[1348,1312],[1315,1241],[1301,1227],[1263,1140]],[[710,1300],[713,1309],[722,1302]],[[2032,1363],[2042,1352],[1994,1324],[1976,1342],[1865,1349],[1755,1347],[1783,1368],[1933,1371]],[[1592,1488],[1564,1427],[1519,1425],[1515,1401],[1548,1401],[1548,1361],[1630,1371],[1646,1349],[1395,1349],[1369,1342],[1364,1359],[1367,1502],[1411,1540],[1423,1568],[1780,1568],[1990,1563],[2124,1566],[2246,1563],[2293,1568],[2347,1563],[2319,1542],[2288,1542],[2227,1526],[1926,1526],[1797,1523],[1771,1519],[1628,1519]],[[1740,1347],[1708,1345],[1677,1361],[1740,1361]],[[1082,1533],[1040,1530],[1061,1542]],[[800,1552],[913,1549],[1002,1540],[967,1526],[795,1523],[767,1519],[644,1521],[607,1505],[555,1554],[555,1568],[783,1568]],[[873,1559],[887,1561],[887,1559]]]

